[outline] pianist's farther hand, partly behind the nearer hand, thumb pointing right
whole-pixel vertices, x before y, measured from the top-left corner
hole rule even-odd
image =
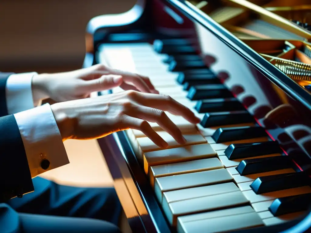
[[[110,69],[98,64],[85,69],[35,75],[32,79],[34,101],[52,98],[63,102],[89,97],[91,92],[120,86],[124,90],[138,90],[159,94],[148,77]]]

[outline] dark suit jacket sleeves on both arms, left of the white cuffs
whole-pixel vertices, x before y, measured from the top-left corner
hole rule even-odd
[[[20,131],[7,112],[5,92],[11,74],[0,72],[0,203],[34,191]]]

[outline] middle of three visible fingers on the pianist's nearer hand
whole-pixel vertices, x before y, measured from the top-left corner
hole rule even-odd
[[[135,110],[128,113],[132,117],[137,117],[149,122],[156,122],[163,130],[168,132],[179,143],[185,144],[187,141],[183,137],[180,129],[174,124],[164,111],[146,107],[137,106]]]

